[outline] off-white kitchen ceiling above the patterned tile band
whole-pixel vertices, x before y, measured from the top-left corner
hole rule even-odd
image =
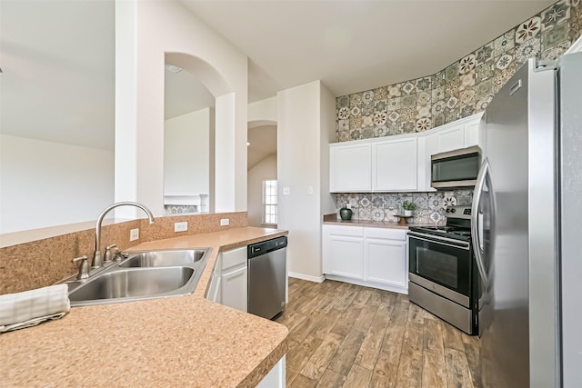
[[[432,75],[554,0],[180,0],[248,56],[248,101],[317,79],[336,95]]]

